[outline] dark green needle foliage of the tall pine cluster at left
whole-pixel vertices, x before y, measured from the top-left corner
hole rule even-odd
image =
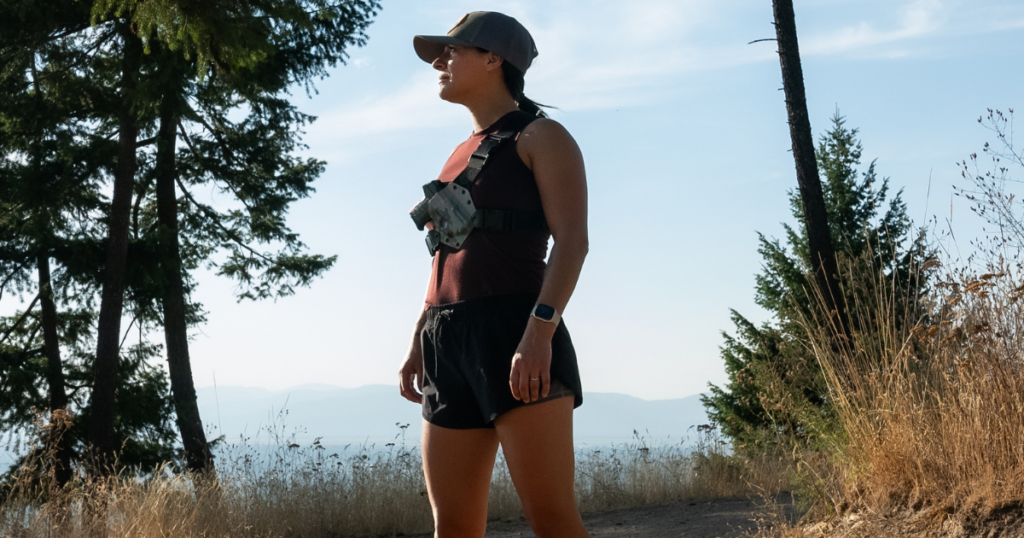
[[[0,430],[17,439],[48,409],[38,293],[40,256],[52,262],[70,434],[84,450],[94,382],[96,311],[121,104],[139,125],[124,314],[131,320],[116,380],[120,463],[174,460],[174,406],[159,359],[168,271],[187,300],[205,266],[240,284],[239,297],[280,297],[308,286],[335,256],[307,252],[289,229],[291,204],[314,193],[326,164],[297,154],[314,118],[289,100],[366,43],[378,0],[0,0],[0,300],[28,298],[0,318]],[[136,87],[121,85],[126,44],[140,41]],[[162,114],[176,124],[170,165],[178,227],[160,224],[156,183]],[[198,200],[193,192],[214,192]],[[180,263],[168,262],[177,235]],[[8,303],[5,301],[5,305]],[[23,307],[25,304],[23,304]],[[9,312],[9,306],[8,306]],[[24,316],[23,316],[24,314]],[[122,328],[124,330],[125,328]],[[24,440],[23,440],[24,441]]]

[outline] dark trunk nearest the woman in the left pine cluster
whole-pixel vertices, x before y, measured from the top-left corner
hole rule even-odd
[[[173,69],[170,68],[169,69]],[[160,222],[161,263],[164,277],[164,337],[171,395],[178,429],[189,470],[213,470],[210,446],[196,401],[191,363],[188,358],[188,326],[185,323],[185,289],[178,249],[178,205],[174,190],[177,174],[174,146],[177,141],[179,98],[177,88],[169,88],[160,104],[160,131],[157,135],[157,218]]]

